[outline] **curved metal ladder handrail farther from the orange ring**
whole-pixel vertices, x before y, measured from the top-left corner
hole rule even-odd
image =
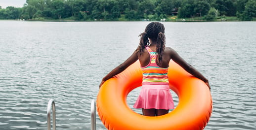
[[[52,106],[52,130],[56,130],[55,102],[50,99],[47,106],[47,130],[51,130],[51,106]]]

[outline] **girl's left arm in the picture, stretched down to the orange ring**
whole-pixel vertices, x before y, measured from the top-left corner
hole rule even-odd
[[[108,79],[112,78],[113,76],[123,72],[129,65],[135,63],[138,60],[138,50],[135,50],[132,55],[122,64],[114,68],[112,71],[110,71],[101,81],[99,87],[107,81]]]

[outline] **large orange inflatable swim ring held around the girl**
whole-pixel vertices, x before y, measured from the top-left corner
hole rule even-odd
[[[97,96],[98,115],[108,130],[203,130],[212,113],[212,97],[206,84],[170,62],[170,89],[179,103],[163,116],[149,117],[132,111],[127,105],[128,93],[141,86],[139,62],[107,80]],[[135,102],[135,100],[134,100]]]

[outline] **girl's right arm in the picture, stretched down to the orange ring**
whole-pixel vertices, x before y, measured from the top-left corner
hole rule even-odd
[[[209,85],[209,81],[206,77],[204,77],[203,74],[201,74],[198,70],[196,70],[196,68],[194,68],[192,65],[189,65],[185,60],[183,60],[178,53],[171,49],[171,59],[177,63],[178,65],[180,65],[182,68],[184,68],[187,72],[189,72],[190,74],[192,74],[193,76],[201,79],[202,81],[204,81],[206,83],[206,85],[209,87],[209,89],[211,89],[210,85]]]

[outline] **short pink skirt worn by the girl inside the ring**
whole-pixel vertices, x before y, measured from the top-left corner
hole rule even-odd
[[[174,109],[169,85],[143,85],[134,108]]]

